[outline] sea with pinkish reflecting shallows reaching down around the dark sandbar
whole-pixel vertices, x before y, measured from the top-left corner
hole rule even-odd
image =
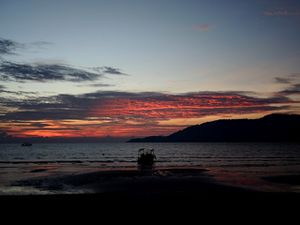
[[[202,168],[229,185],[300,192],[264,179],[300,175],[300,143],[34,143],[0,144],[0,195],[36,191],[11,185],[22,179],[135,169],[141,148],[154,149],[157,169]]]

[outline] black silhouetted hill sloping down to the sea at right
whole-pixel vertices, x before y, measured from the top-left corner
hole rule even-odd
[[[190,126],[169,136],[135,138],[128,142],[300,142],[300,115],[222,119]]]

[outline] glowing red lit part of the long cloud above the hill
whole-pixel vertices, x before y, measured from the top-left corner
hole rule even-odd
[[[196,118],[218,111],[251,111],[267,106],[262,99],[238,94],[167,95],[163,98],[107,99],[90,111],[90,116],[167,120]],[[209,115],[209,114],[208,114]]]

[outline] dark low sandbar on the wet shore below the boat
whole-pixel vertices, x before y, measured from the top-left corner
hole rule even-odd
[[[36,170],[33,173],[39,172]],[[97,171],[75,175],[46,176],[12,184],[50,190],[50,194],[122,194],[132,197],[201,192],[250,192],[249,189],[218,183],[204,169],[166,168]]]

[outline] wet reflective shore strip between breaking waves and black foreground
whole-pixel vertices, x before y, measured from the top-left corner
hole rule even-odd
[[[101,168],[44,164],[7,167],[6,170],[6,175],[2,171],[0,196],[115,194],[134,198],[143,195],[201,196],[204,193],[300,193],[299,176],[251,177],[202,166],[155,166],[139,170],[136,166]]]

